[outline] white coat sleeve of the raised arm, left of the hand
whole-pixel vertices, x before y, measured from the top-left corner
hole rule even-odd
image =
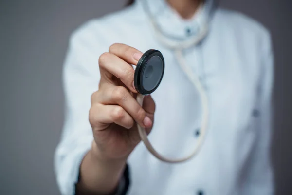
[[[63,67],[65,122],[55,151],[55,174],[62,195],[73,195],[79,166],[93,140],[88,120],[91,94],[98,90],[100,73],[94,36],[85,30],[73,33]]]

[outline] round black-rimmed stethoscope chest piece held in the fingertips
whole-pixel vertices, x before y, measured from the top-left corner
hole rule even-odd
[[[159,86],[164,74],[164,58],[160,51],[150,49],[139,59],[135,73],[134,85],[138,93],[148,95]]]

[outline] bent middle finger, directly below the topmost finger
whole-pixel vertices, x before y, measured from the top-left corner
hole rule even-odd
[[[137,93],[134,85],[134,69],[123,59],[112,53],[103,53],[99,57],[101,76],[113,83],[112,75],[119,78],[132,92]]]

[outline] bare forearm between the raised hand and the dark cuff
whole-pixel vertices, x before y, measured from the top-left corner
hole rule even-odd
[[[108,160],[96,148],[91,148],[80,165],[78,185],[96,194],[111,194],[123,176],[125,166],[126,159]]]

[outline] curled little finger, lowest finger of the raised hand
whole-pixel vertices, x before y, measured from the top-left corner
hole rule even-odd
[[[90,110],[90,122],[95,127],[101,127],[99,130],[103,129],[103,124],[116,123],[126,129],[134,125],[133,118],[118,105],[94,105]]]

